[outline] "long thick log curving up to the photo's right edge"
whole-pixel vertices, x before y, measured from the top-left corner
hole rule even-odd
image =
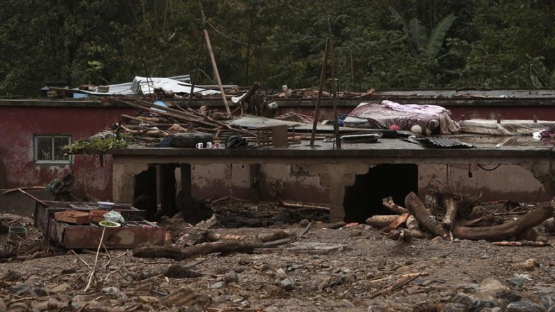
[[[459,239],[485,239],[490,242],[502,241],[517,237],[526,230],[540,225],[543,221],[551,217],[552,213],[552,205],[543,204],[521,218],[501,225],[480,228],[468,228],[466,226],[455,225],[453,228],[453,236]]]

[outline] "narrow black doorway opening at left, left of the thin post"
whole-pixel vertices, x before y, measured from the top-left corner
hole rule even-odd
[[[148,170],[135,175],[135,190],[133,206],[147,211],[147,220],[156,219],[156,165],[150,165]]]

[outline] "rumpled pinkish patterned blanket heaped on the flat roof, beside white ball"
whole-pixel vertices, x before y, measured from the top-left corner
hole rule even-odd
[[[437,105],[417,105],[382,101],[381,104],[362,103],[358,105],[349,117],[367,119],[370,128],[387,129],[396,124],[401,130],[410,130],[415,125],[434,130],[438,124],[441,134],[457,133],[461,130],[459,124],[451,119],[451,112]],[[355,123],[346,126],[356,126]]]

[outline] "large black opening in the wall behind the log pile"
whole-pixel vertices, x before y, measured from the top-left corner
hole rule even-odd
[[[383,164],[357,174],[355,184],[345,188],[345,222],[364,223],[376,214],[392,214],[383,207],[383,198],[392,197],[400,206],[410,192],[418,193],[418,165]]]

